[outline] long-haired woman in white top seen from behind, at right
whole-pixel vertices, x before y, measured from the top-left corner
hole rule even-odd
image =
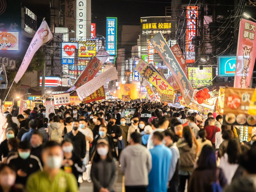
[[[235,140],[230,140],[227,145],[226,153],[221,157],[221,161],[219,163],[219,167],[223,169],[228,184],[231,183],[235,171],[239,166],[238,159],[240,155],[240,143]]]

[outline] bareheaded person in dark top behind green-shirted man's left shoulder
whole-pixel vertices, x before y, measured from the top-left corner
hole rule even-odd
[[[43,144],[43,135],[39,131],[35,131],[30,139],[30,144],[31,144],[31,155],[35,155],[38,157],[42,164],[42,158],[41,158],[41,153],[42,153],[42,144]]]

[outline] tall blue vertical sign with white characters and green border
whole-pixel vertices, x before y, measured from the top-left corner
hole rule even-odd
[[[117,18],[107,17],[106,51],[109,55],[117,53]]]

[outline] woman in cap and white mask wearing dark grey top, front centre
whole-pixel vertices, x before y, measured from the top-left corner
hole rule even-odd
[[[97,143],[95,155],[91,165],[91,180],[94,192],[114,191],[118,176],[116,159],[112,157],[106,140]]]

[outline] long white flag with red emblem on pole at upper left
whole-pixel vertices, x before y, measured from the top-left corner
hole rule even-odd
[[[27,70],[27,67],[29,66],[29,63],[31,59],[33,58],[35,52],[45,43],[50,41],[53,38],[53,34],[51,34],[51,30],[49,26],[47,25],[46,21],[43,21],[38,28],[37,32],[35,33],[35,36],[33,37],[29,48],[27,49],[27,52],[23,58],[23,61],[21,63],[21,66],[19,67],[19,70],[15,76],[14,81],[16,83],[19,82],[19,80],[22,78],[23,74]]]

